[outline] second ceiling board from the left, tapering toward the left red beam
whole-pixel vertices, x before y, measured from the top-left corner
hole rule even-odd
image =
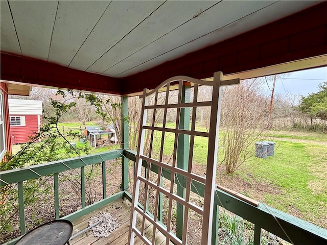
[[[58,1],[10,1],[22,55],[48,59]]]

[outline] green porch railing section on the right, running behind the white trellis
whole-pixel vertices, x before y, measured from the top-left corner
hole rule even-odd
[[[136,153],[131,150],[125,150],[124,155],[131,161],[136,161]],[[142,164],[147,168],[147,162],[143,161]],[[151,170],[158,173],[158,167],[151,164]],[[171,178],[171,171],[162,168],[162,176],[168,180]],[[186,178],[176,179],[183,187],[186,187]],[[204,196],[204,184],[197,181],[192,181],[191,190]],[[215,213],[213,222],[212,244],[218,243],[218,206],[248,220],[254,224],[254,237],[253,244],[260,245],[261,243],[261,230],[264,229],[288,242],[295,245],[308,245],[308,244],[327,244],[327,230],[318,227],[314,224],[306,222],[300,218],[296,218],[290,214],[279,211],[260,203],[258,207],[252,206],[229,193],[217,189],[215,195]],[[162,210],[158,211],[162,213]]]

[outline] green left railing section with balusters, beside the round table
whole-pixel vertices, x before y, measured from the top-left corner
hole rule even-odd
[[[73,221],[74,219],[83,216],[86,213],[92,212],[96,209],[107,205],[119,198],[123,198],[124,191],[116,193],[110,197],[106,197],[106,164],[107,160],[113,160],[123,157],[123,150],[112,150],[98,154],[92,154],[82,157],[75,157],[71,159],[65,159],[62,161],[48,162],[33,166],[28,166],[24,168],[18,168],[13,170],[6,170],[0,172],[0,186],[5,186],[13,183],[18,184],[18,206],[19,206],[19,225],[20,234],[24,235],[26,233],[26,223],[25,223],[25,204],[24,204],[24,181],[40,178],[43,176],[51,176],[54,178],[54,200],[55,200],[55,217],[59,219],[59,191],[58,191],[58,173],[66,170],[80,168],[81,171],[81,209],[74,213],[71,213],[64,219]],[[92,164],[102,163],[102,189],[103,189],[103,199],[97,203],[86,206],[85,205],[85,176],[84,167]],[[7,242],[6,245],[14,244],[17,240],[13,239]]]

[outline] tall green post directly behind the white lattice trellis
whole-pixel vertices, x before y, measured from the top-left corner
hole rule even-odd
[[[190,102],[191,86],[183,85],[182,87],[182,101],[181,103]],[[190,108],[181,108],[180,109],[180,120],[179,120],[179,129],[190,129]],[[190,137],[189,135],[179,134],[177,141],[177,167],[188,170],[189,162],[189,148],[190,148]],[[184,182],[184,177],[177,174],[177,195],[185,199],[186,189],[181,186],[180,182]],[[179,239],[182,239],[183,234],[183,223],[184,223],[184,211],[185,207],[177,202],[177,220],[176,220],[176,235]]]

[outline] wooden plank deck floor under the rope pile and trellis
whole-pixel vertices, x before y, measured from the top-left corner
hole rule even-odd
[[[83,217],[75,220],[75,222],[73,222],[74,225],[73,235],[87,228],[90,217],[98,215],[100,211],[111,213],[115,218],[118,219],[118,222],[121,224],[120,227],[114,230],[108,237],[102,237],[102,238],[95,237],[92,231],[88,230],[87,232],[84,232],[80,236],[69,241],[71,245],[73,244],[75,245],[127,244],[130,211],[131,211],[131,203],[129,201],[117,200],[115,202],[112,202],[102,207],[101,209],[98,209],[97,211],[86,214]],[[142,218],[141,215],[139,215],[137,216],[137,222],[136,222],[136,227],[138,229],[141,229],[141,222],[142,222]],[[153,226],[146,221],[145,227],[146,227],[145,229],[146,236],[151,241]],[[166,244],[165,242],[166,242],[166,237],[157,231],[155,244],[162,245],[162,244]],[[141,244],[144,244],[143,241],[136,236],[134,240],[134,245],[141,245]]]

